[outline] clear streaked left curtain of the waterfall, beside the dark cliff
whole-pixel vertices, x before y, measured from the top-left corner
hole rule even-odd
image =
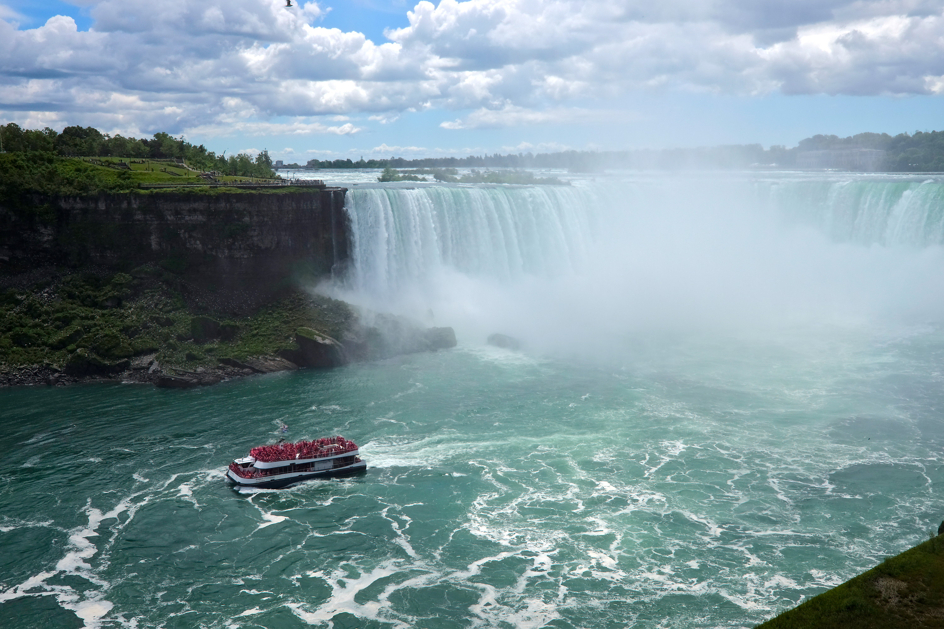
[[[349,279],[384,295],[447,269],[499,281],[576,273],[598,201],[567,186],[350,190]]]

